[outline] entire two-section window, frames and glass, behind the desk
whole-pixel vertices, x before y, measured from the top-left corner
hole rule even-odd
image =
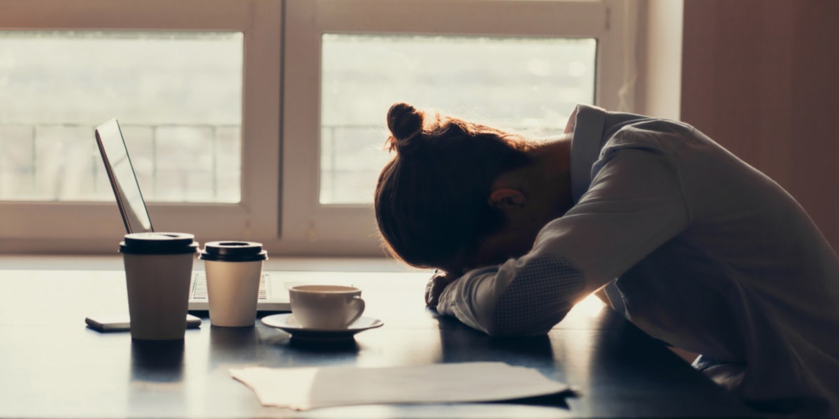
[[[0,104],[0,251],[116,248],[92,135],[111,117],[157,230],[378,256],[393,102],[534,137],[576,103],[631,103],[634,8],[620,0],[0,6],[0,96],[22,98]]]

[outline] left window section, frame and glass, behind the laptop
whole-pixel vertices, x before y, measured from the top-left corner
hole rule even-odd
[[[0,0],[0,250],[116,249],[112,117],[157,230],[276,240],[281,6]]]

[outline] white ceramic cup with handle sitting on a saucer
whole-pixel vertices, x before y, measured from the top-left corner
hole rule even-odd
[[[364,313],[362,290],[339,285],[298,285],[289,288],[291,313],[304,328],[348,328]]]

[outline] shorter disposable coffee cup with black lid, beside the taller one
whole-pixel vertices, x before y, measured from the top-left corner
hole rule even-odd
[[[204,245],[210,324],[221,327],[253,327],[257,318],[262,244],[253,241],[211,241]]]

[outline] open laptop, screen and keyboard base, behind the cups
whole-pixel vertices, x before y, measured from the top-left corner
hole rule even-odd
[[[111,182],[114,197],[117,199],[119,213],[128,233],[153,232],[149,210],[146,209],[143,193],[134,173],[128,147],[122,137],[119,122],[112,119],[96,127],[96,145],[105,163],[105,171]],[[210,304],[206,293],[204,272],[193,272],[190,283],[190,311],[209,310]],[[279,276],[263,272],[259,284],[257,311],[290,311],[289,290],[286,282]]]

